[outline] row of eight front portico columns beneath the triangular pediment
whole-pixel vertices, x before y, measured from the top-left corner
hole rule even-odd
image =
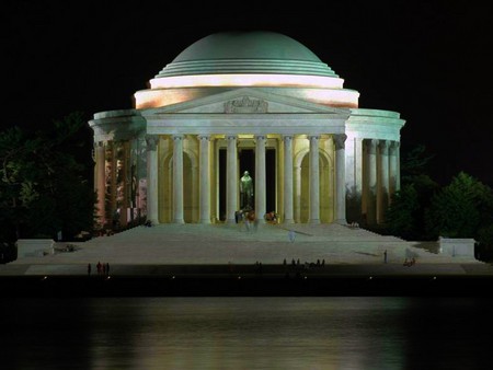
[[[184,223],[183,218],[183,135],[173,136],[173,222]],[[226,136],[226,221],[236,223],[234,213],[238,210],[238,137]],[[293,135],[284,135],[284,217],[285,223],[294,223],[294,176],[293,176]],[[320,223],[320,175],[319,175],[319,136],[309,136],[309,177],[310,177],[310,223]],[[345,135],[334,135],[336,158],[336,222],[345,223]],[[147,137],[148,146],[148,188],[147,217],[158,223],[158,152],[157,136]],[[199,222],[210,223],[210,174],[209,151],[210,136],[199,135]],[[266,211],[266,137],[255,136],[255,212],[260,222],[264,222]]]

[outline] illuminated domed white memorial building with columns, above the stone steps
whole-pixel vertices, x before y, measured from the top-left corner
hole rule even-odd
[[[397,112],[359,108],[326,63],[273,32],[198,39],[94,114],[101,224],[236,223],[249,173],[259,222],[377,224],[400,187]],[[250,199],[250,198],[249,198]]]

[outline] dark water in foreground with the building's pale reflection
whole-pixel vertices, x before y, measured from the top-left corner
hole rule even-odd
[[[491,308],[474,298],[9,298],[0,338],[5,369],[479,369]]]

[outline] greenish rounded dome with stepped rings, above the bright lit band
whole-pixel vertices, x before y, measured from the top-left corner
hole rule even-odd
[[[310,49],[275,32],[223,32],[195,42],[156,78],[265,73],[337,77]]]

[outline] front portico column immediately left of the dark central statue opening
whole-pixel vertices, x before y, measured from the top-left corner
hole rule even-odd
[[[226,223],[234,224],[234,212],[238,210],[238,149],[237,136],[227,135],[226,159]]]

